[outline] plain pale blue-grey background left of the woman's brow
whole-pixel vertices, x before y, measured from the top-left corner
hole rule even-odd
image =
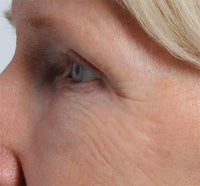
[[[11,7],[11,3],[12,0],[0,2],[0,73],[13,58],[16,47],[15,29],[4,18],[4,11]]]

